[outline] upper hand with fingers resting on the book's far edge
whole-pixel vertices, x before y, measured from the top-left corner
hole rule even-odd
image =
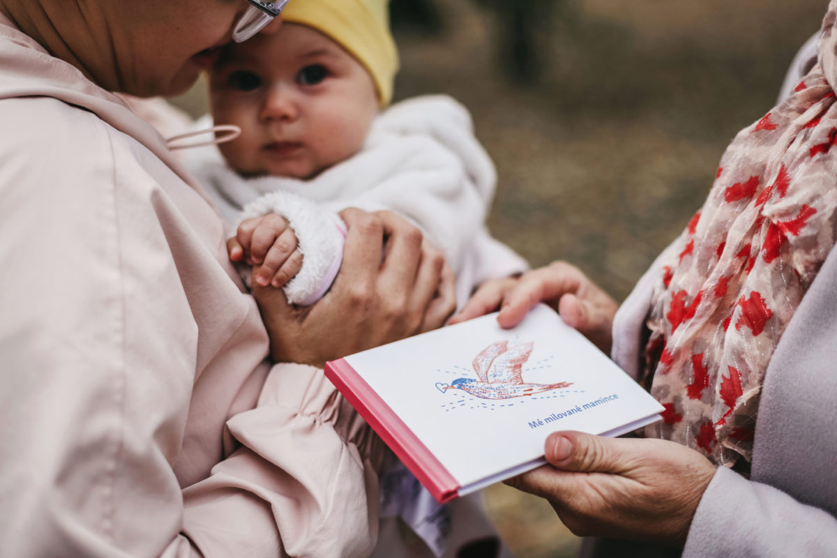
[[[539,302],[561,314],[563,320],[579,330],[605,353],[613,343],[611,330],[619,305],[578,268],[554,262],[533,269],[519,278],[485,282],[450,323],[458,323],[500,310],[501,327],[514,327]]]

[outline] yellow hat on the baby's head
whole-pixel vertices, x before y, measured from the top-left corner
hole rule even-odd
[[[352,54],[372,76],[384,107],[393,99],[398,72],[388,4],[389,0],[291,0],[282,20],[314,28]]]

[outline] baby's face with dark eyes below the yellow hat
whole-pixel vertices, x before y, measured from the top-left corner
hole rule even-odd
[[[225,49],[210,97],[215,124],[241,128],[220,149],[245,176],[314,177],[361,148],[378,111],[362,64],[293,23]]]

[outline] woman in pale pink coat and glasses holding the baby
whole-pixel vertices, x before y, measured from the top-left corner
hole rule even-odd
[[[182,92],[231,38],[275,29],[280,4],[0,2],[4,554],[372,550],[373,442],[306,364],[442,325],[444,258],[393,214],[342,212],[330,293],[272,321],[297,363],[300,386],[282,389],[327,415],[272,404],[269,332],[218,215],[110,92]],[[289,446],[303,431],[309,445]]]

